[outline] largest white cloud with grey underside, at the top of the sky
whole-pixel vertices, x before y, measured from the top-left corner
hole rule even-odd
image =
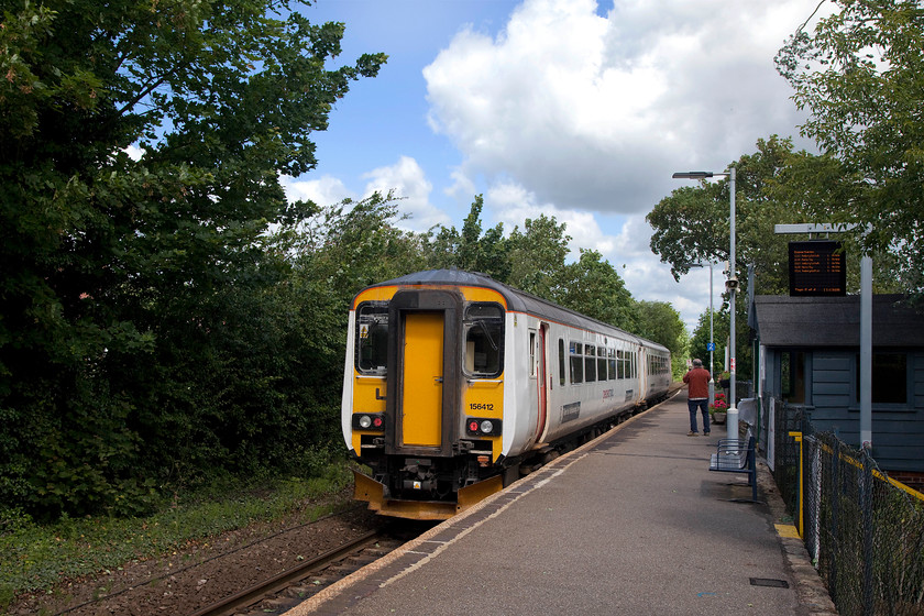
[[[461,31],[424,69],[431,128],[465,176],[540,201],[648,211],[672,170],[722,170],[759,138],[798,132],[773,56],[802,0],[526,0],[506,29]]]

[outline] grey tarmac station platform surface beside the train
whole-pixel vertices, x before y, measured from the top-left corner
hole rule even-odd
[[[747,502],[688,430],[684,389],[287,615],[835,614],[766,466]]]

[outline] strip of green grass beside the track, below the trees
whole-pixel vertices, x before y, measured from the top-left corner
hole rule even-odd
[[[322,476],[287,479],[271,485],[212,487],[175,496],[145,518],[63,518],[52,525],[8,524],[0,535],[0,610],[25,592],[51,592],[58,582],[108,572],[135,559],[168,553],[193,541],[273,521],[298,513],[311,521],[342,508],[338,494],[352,474],[341,464]]]

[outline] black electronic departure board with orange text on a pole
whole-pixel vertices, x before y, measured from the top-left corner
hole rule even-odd
[[[790,242],[790,295],[847,295],[847,264],[840,242]]]

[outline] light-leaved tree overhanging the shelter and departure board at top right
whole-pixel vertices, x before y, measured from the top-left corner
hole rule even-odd
[[[924,290],[924,11],[914,0],[835,0],[839,12],[805,24],[777,67],[811,113],[802,133],[821,157],[802,161],[793,186],[818,170],[838,199],[807,199],[829,222],[859,223],[868,253],[891,252],[906,289]],[[807,21],[806,21],[807,23]],[[805,173],[807,170],[807,173]],[[817,196],[817,195],[814,195]],[[869,229],[864,235],[861,231]]]

